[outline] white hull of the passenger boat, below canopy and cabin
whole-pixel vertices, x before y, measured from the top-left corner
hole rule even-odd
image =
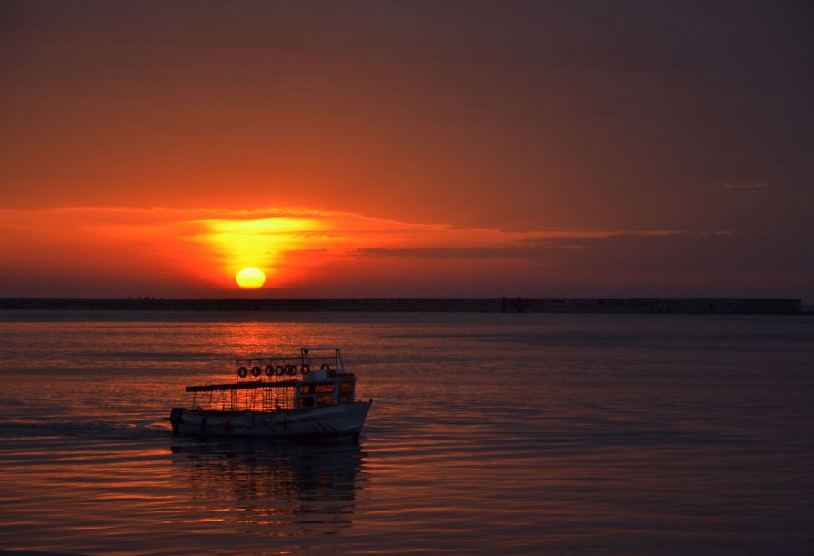
[[[175,434],[217,438],[311,439],[339,436],[357,438],[367,418],[370,401],[324,408],[262,411],[205,411],[173,409]]]

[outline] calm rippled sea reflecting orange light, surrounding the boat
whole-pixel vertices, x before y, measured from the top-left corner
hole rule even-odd
[[[0,549],[814,552],[814,319],[0,313]],[[359,446],[178,440],[230,359],[345,348]]]

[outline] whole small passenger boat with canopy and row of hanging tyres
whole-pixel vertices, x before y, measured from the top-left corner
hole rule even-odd
[[[191,406],[173,408],[173,434],[191,437],[358,442],[373,399],[357,401],[356,375],[340,348],[236,359],[237,380],[187,386]]]

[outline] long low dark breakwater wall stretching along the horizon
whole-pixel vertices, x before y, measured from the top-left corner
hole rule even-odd
[[[356,311],[450,313],[802,314],[800,299],[385,298],[385,299],[0,299],[0,310]]]

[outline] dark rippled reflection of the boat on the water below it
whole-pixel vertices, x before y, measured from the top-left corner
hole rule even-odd
[[[298,537],[350,527],[364,488],[365,452],[353,442],[176,439],[176,484],[188,484],[197,532]],[[267,537],[266,537],[267,538]]]

